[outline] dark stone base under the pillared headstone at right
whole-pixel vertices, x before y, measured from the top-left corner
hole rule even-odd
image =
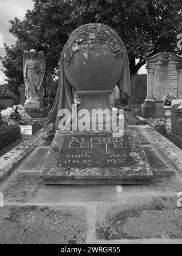
[[[141,113],[144,118],[163,118],[165,110],[163,102],[144,102],[141,105]]]

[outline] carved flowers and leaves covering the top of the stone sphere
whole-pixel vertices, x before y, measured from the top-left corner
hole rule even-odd
[[[61,59],[69,66],[79,50],[84,48],[95,51],[101,46],[112,52],[116,59],[126,57],[123,41],[113,29],[104,24],[90,23],[78,27],[70,35],[62,50]]]

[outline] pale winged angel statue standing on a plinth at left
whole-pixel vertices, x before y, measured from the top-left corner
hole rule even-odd
[[[45,76],[45,56],[44,52],[38,52],[38,57],[34,49],[25,51],[24,82],[25,82],[25,108],[41,108],[43,106],[44,88],[42,81]]]

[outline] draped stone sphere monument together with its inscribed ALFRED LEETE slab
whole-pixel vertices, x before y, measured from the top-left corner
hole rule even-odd
[[[93,109],[109,109],[115,85],[130,95],[129,60],[121,38],[104,24],[85,24],[70,35],[60,63],[56,99],[44,127],[44,138],[56,132],[42,168],[44,183],[148,183],[152,172],[135,131],[73,130],[73,126],[62,130],[60,126],[60,110],[73,110],[72,87],[91,120],[97,116]],[[74,123],[73,118],[68,119]]]

